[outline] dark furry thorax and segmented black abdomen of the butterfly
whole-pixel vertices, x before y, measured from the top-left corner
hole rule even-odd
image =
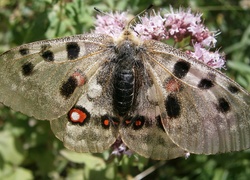
[[[113,109],[119,116],[126,116],[132,110],[135,101],[135,64],[138,61],[136,46],[134,41],[125,40],[115,47]]]

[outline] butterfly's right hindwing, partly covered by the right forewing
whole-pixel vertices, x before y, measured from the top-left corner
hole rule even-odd
[[[130,150],[147,158],[167,160],[184,156],[185,151],[172,142],[162,126],[157,100],[163,99],[163,96],[158,93],[157,77],[147,63],[148,59],[143,61],[146,71],[138,77],[142,85],[135,109],[122,120],[119,130],[121,139]]]

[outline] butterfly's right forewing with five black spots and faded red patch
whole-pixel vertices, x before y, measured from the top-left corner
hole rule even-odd
[[[164,96],[158,98],[163,127],[174,143],[198,154],[250,147],[249,93],[177,49],[156,41],[145,47]]]

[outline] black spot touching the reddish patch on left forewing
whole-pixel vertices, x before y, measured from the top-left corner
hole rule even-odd
[[[70,76],[69,79],[63,83],[61,86],[60,92],[61,95],[69,98],[73,92],[75,91],[76,87],[78,86],[77,79]]]

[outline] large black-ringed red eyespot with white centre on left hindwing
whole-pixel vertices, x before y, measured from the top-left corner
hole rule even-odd
[[[85,108],[75,107],[69,111],[68,117],[73,123],[83,124],[90,118],[90,114]]]

